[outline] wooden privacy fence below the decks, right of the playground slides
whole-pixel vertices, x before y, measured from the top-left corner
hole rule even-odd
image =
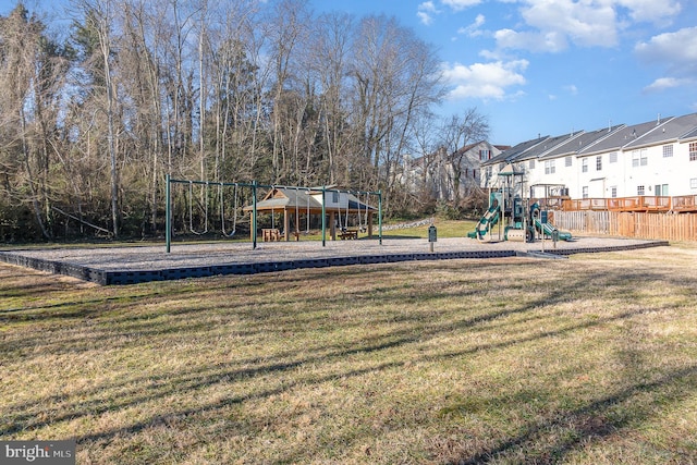
[[[697,241],[695,213],[638,213],[620,211],[554,211],[554,225],[586,234],[663,241]]]

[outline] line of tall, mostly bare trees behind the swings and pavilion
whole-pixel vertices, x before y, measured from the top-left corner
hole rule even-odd
[[[476,109],[435,114],[438,53],[393,17],[306,0],[71,0],[66,15],[0,16],[1,241],[162,234],[166,174],[381,189],[388,212],[416,213],[432,199],[405,188],[403,157],[488,134]]]

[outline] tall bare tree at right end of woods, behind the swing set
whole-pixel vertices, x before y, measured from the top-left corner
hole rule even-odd
[[[438,61],[413,30],[386,16],[365,17],[354,42],[352,123],[389,204],[416,120],[442,97]]]

